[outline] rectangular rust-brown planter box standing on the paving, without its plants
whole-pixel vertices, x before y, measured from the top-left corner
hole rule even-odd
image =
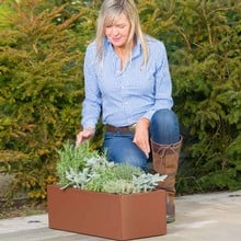
[[[114,240],[167,233],[165,191],[115,195],[48,185],[49,228]]]

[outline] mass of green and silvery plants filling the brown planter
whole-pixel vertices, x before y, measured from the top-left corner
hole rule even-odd
[[[165,175],[145,173],[141,169],[108,162],[105,154],[89,148],[89,144],[73,147],[69,142],[58,151],[57,174],[61,188],[69,186],[114,194],[153,191]]]

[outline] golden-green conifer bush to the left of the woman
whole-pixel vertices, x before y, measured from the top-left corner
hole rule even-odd
[[[56,181],[56,149],[79,128],[82,100],[81,39],[58,23],[64,7],[12,3],[0,32],[0,160],[34,198]],[[87,43],[81,43],[85,45]]]

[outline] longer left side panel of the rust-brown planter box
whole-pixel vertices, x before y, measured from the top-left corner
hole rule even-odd
[[[48,186],[49,228],[118,239],[122,237],[117,195]]]

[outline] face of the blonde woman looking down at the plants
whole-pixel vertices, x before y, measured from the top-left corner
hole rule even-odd
[[[130,32],[130,23],[124,13],[114,21],[106,21],[104,30],[105,36],[114,47],[125,47]]]

